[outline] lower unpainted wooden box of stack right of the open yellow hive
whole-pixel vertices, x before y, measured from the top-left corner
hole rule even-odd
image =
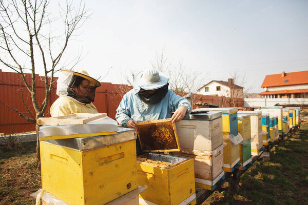
[[[195,181],[198,188],[213,190],[224,175],[223,145],[213,151],[186,149],[172,154],[194,158]]]

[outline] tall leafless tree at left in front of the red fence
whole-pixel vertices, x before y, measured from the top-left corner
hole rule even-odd
[[[6,105],[11,111],[18,113],[26,120],[36,123],[38,117],[44,117],[48,99],[54,84],[54,73],[60,69],[73,67],[79,62],[80,56],[72,61],[63,61],[69,40],[89,17],[85,3],[77,5],[67,0],[60,11],[54,11],[48,0],[0,0],[0,62],[21,76],[22,95],[30,95],[31,109],[26,103],[28,114]],[[59,26],[61,22],[62,26]],[[44,72],[43,79],[36,79],[38,71]],[[31,73],[27,80],[26,73]],[[45,98],[42,103],[37,100],[36,83],[43,80]],[[23,97],[22,97],[23,98]],[[36,132],[38,126],[36,125]],[[37,157],[40,157],[40,147],[36,145]]]

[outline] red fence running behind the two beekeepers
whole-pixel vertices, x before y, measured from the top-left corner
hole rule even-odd
[[[31,74],[26,74],[27,81],[31,81]],[[56,84],[52,90],[48,108],[45,115],[50,117],[49,109],[54,100],[58,98],[56,95]],[[127,85],[102,83],[102,86],[97,88],[95,92],[94,105],[100,113],[115,119],[115,110],[118,108],[123,95],[128,92],[131,87]],[[36,94],[38,103],[42,103],[45,98],[45,82],[44,77],[36,75]],[[187,93],[183,93],[187,94]],[[32,106],[31,95],[25,85],[22,83],[21,76],[18,73],[2,72],[0,69],[0,101],[13,110],[18,110],[28,117],[31,117],[26,106],[29,108],[32,115],[35,112]],[[213,103],[219,107],[234,107],[232,100],[226,97],[192,95],[192,104],[196,103]],[[25,106],[26,105],[26,106]],[[238,99],[235,107],[242,107],[243,99]],[[0,133],[20,133],[35,130],[35,125],[32,122],[25,120],[18,113],[13,112],[8,107],[0,104]],[[196,106],[194,106],[196,108]]]

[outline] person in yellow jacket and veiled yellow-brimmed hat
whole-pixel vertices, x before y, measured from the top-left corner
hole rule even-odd
[[[73,113],[98,113],[92,104],[100,81],[90,77],[84,69],[62,70],[57,79],[57,98],[50,107],[52,117]]]

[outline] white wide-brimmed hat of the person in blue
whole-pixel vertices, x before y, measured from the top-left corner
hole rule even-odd
[[[134,84],[143,90],[154,90],[165,86],[169,78],[163,72],[156,69],[148,69],[138,73],[134,78]]]

